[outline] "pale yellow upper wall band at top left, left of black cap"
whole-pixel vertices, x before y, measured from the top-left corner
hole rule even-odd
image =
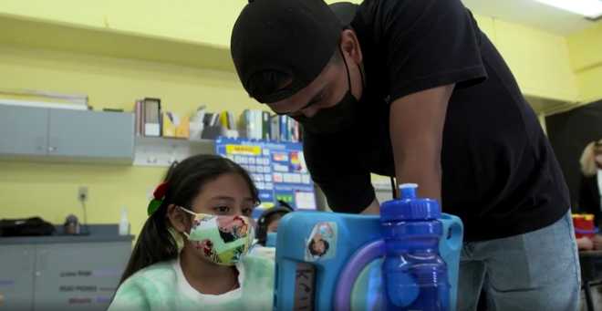
[[[3,0],[0,14],[141,36],[230,46],[230,30],[246,0]]]

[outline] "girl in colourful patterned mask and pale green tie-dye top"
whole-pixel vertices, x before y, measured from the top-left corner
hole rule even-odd
[[[272,308],[274,262],[246,255],[259,199],[243,168],[193,156],[154,197],[109,311]]]

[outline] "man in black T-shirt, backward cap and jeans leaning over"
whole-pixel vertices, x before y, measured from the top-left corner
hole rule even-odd
[[[460,216],[459,309],[575,309],[566,184],[533,109],[460,0],[255,0],[234,65],[250,96],[303,128],[340,213],[378,213],[370,173],[416,182]],[[559,294],[562,293],[562,294]]]

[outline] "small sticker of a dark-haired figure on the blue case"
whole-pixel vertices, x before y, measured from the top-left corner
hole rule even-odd
[[[317,223],[306,239],[306,261],[333,258],[337,251],[337,223]]]

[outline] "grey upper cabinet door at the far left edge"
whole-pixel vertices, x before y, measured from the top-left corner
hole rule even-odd
[[[47,154],[48,109],[0,105],[0,154]]]

